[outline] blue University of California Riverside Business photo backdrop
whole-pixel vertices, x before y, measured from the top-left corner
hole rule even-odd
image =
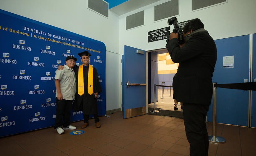
[[[54,125],[55,71],[69,55],[87,50],[102,92],[99,115],[106,114],[106,46],[69,31],[0,10],[0,137]],[[71,121],[83,112],[71,111]]]

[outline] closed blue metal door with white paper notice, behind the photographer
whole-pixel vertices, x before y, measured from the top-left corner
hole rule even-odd
[[[218,56],[213,82],[228,84],[249,80],[249,35],[219,39],[215,43]],[[234,56],[233,68],[223,68],[225,56]],[[217,123],[247,126],[249,91],[217,88],[216,92]],[[212,121],[212,112],[211,105],[207,121]]]

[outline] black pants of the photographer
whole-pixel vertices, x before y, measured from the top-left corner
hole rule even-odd
[[[190,156],[207,156],[209,137],[205,119],[209,106],[183,103],[183,118]]]

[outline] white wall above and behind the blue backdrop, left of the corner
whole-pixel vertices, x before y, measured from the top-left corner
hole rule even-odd
[[[105,43],[106,110],[121,108],[121,91],[116,87],[122,69],[119,16],[109,11],[109,18],[103,17],[87,9],[87,0],[1,0],[0,9]]]

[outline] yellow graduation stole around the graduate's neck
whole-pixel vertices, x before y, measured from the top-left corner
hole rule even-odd
[[[83,64],[81,64],[78,68],[78,94],[83,95],[84,88],[83,88]],[[93,94],[93,68],[89,64],[88,67],[88,94]]]

